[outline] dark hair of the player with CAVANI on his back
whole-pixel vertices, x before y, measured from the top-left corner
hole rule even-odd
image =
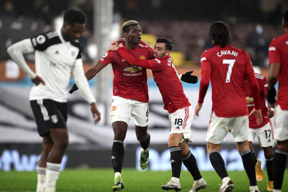
[[[210,41],[214,40],[213,46],[220,45],[225,47],[230,43],[230,35],[227,25],[222,21],[216,21],[212,24],[209,31]]]

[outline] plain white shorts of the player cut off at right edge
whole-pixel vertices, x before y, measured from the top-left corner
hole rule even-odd
[[[274,134],[277,141],[288,140],[288,110],[282,110],[280,105],[275,109]]]

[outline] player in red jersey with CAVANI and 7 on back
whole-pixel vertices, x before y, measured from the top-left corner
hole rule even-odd
[[[222,179],[219,192],[234,189],[234,184],[227,174],[225,163],[219,153],[229,128],[232,128],[235,144],[249,178],[250,191],[259,192],[254,157],[247,141],[249,122],[244,88],[246,75],[255,101],[250,115],[255,114],[257,125],[261,125],[259,89],[252,64],[244,50],[229,45],[229,30],[224,22],[214,22],[210,27],[209,36],[214,47],[203,52],[201,56],[202,79],[195,113],[199,116],[211,78],[213,104],[206,141],[211,164]]]

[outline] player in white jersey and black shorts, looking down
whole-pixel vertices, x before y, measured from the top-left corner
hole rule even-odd
[[[7,52],[25,71],[35,85],[30,92],[30,104],[36,119],[38,133],[43,137],[42,153],[38,163],[37,192],[54,192],[61,160],[68,145],[67,86],[71,69],[77,86],[91,104],[100,121],[96,101],[89,88],[82,67],[82,52],[78,42],[85,29],[85,14],[67,10],[61,31],[53,31],[24,39],[11,45]],[[35,52],[36,74],[29,68],[23,54]]]

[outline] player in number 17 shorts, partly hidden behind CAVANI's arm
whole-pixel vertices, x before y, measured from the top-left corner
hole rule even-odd
[[[262,113],[262,124],[257,125],[255,116],[249,117],[249,130],[248,130],[248,143],[250,150],[255,158],[255,170],[256,170],[256,179],[257,181],[263,180],[263,172],[261,170],[261,161],[256,158],[255,152],[253,151],[253,140],[257,136],[259,145],[264,150],[264,156],[266,158],[266,166],[267,166],[267,190],[273,190],[273,147],[274,144],[274,136],[273,129],[270,118],[274,116],[274,110],[271,109],[273,105],[268,102],[268,108],[265,104],[265,98],[267,95],[267,87],[268,82],[265,76],[255,73],[255,77],[258,83],[259,93],[260,93],[260,107]],[[250,89],[250,84],[245,79],[245,97],[248,107],[248,113],[250,113],[254,108],[254,99],[252,95],[252,91]]]

